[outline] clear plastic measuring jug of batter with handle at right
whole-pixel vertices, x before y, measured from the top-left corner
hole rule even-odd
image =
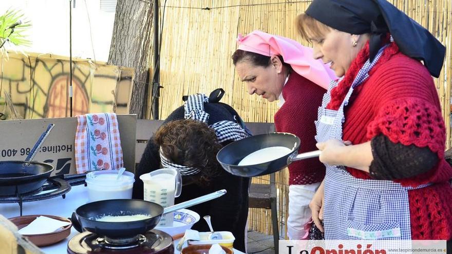
[[[157,203],[163,208],[174,205],[174,199],[182,190],[182,177],[174,168],[161,168],[140,175],[143,181],[144,200]],[[172,227],[173,213],[167,213],[157,226]]]

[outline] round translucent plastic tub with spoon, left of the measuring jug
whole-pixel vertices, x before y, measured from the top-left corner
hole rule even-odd
[[[134,173],[125,171],[116,179],[119,170],[99,170],[86,174],[89,202],[107,199],[131,199]]]

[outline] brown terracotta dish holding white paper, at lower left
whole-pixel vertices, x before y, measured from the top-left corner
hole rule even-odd
[[[59,221],[67,221],[71,222],[69,219],[58,217],[58,216],[51,216],[51,215],[44,215],[44,214],[35,214],[35,215],[27,215],[27,216],[19,216],[10,218],[9,220],[14,223],[18,229],[21,229],[23,227],[26,227],[28,224],[30,224],[34,219],[36,219],[39,216],[45,216],[48,218],[52,218]],[[32,243],[34,243],[36,246],[42,247],[47,246],[51,244],[58,243],[69,236],[70,234],[70,228],[72,226],[72,223],[64,226],[54,232],[51,233],[42,233],[39,235],[23,235],[24,237],[28,238]]]

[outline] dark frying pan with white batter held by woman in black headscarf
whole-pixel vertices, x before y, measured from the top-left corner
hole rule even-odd
[[[270,147],[287,147],[290,149],[280,157],[253,165],[239,166],[239,162],[247,155]],[[228,172],[239,177],[257,177],[277,172],[294,161],[318,157],[321,151],[305,152],[298,154],[300,139],[291,133],[267,133],[250,136],[224,146],[217,153],[217,160]]]

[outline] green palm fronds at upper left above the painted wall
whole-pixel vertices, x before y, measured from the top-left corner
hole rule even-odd
[[[31,41],[29,41],[27,35],[24,34],[31,27],[30,21],[25,21],[21,25],[16,26],[12,33],[12,29],[9,28],[11,25],[24,18],[24,14],[19,10],[9,9],[3,15],[0,15],[0,45],[2,45],[5,40],[8,40],[9,43],[16,46],[31,45]],[[5,46],[7,46],[8,42],[0,48],[2,53],[6,53]]]

